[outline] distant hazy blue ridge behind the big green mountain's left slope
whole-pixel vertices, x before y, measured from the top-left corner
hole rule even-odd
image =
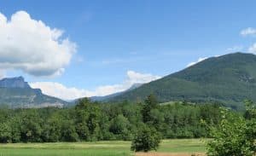
[[[125,92],[127,91],[130,91],[130,90],[135,90],[137,89],[138,87],[140,87],[141,85],[143,84],[132,84],[131,87],[128,89],[128,90],[125,90],[125,91],[120,91],[120,92],[117,92],[117,93],[113,93],[111,95],[104,95],[104,96],[91,96],[90,97],[90,100],[91,101],[108,101],[109,99],[115,97],[115,96],[118,96],[118,95],[122,95],[124,94]]]

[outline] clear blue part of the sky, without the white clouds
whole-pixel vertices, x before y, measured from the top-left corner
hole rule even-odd
[[[199,58],[247,52],[256,42],[253,35],[241,35],[242,30],[256,25],[253,0],[0,3],[0,12],[8,20],[24,10],[33,20],[64,31],[61,38],[77,45],[61,75],[39,77],[11,68],[4,70],[5,76],[23,75],[31,83],[55,82],[67,89],[96,90],[99,86],[124,84],[127,71],[162,77]]]

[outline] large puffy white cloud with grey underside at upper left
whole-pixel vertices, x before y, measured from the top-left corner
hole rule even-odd
[[[60,75],[76,51],[76,44],[62,35],[26,11],[12,14],[10,20],[0,13],[0,68],[34,76]]]

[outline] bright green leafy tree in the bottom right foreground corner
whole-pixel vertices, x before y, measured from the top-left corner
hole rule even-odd
[[[247,111],[255,113],[254,108]],[[253,114],[249,115],[253,116]],[[255,121],[255,118],[247,120],[237,113],[224,109],[220,124],[217,127],[211,127],[213,140],[207,144],[207,154],[209,156],[253,156],[256,152]]]

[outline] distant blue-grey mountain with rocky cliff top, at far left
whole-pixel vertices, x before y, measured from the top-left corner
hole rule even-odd
[[[0,80],[0,105],[9,107],[64,107],[68,103],[44,95],[39,89],[32,89],[24,78],[3,78]]]

